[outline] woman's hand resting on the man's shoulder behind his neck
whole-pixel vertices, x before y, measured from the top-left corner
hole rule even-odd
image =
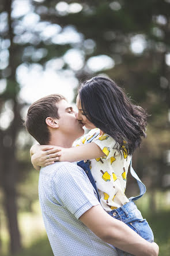
[[[51,145],[33,145],[30,150],[31,162],[36,170],[48,166],[59,160],[61,147]]]

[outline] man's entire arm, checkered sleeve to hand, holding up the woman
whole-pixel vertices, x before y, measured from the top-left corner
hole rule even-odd
[[[52,188],[59,202],[104,242],[137,256],[158,255],[157,244],[150,244],[103,210],[87,175],[76,164],[67,162],[59,167]]]

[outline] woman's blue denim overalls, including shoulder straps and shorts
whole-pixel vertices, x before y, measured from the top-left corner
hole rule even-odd
[[[96,133],[92,138],[90,138],[90,140],[88,140],[87,143],[91,142],[98,135],[99,135],[99,132]],[[89,178],[90,182],[92,183],[93,187],[95,188],[95,191],[97,193],[97,198],[100,202],[99,192],[97,191],[95,180],[93,179],[92,174],[90,172],[89,160],[82,160],[82,161],[78,162],[77,164],[82,169],[84,169],[86,175],[88,175],[88,178]],[[140,194],[138,196],[133,196],[133,197],[129,198],[129,200],[130,200],[129,203],[124,204],[123,206],[119,207],[118,209],[110,211],[108,214],[111,215],[112,217],[116,218],[117,220],[123,221],[131,229],[133,229],[135,232],[137,232],[138,235],[142,236],[145,240],[152,243],[154,240],[152,229],[150,228],[146,219],[143,219],[141,212],[137,209],[137,206],[134,203],[135,200],[137,200],[143,196],[143,194],[146,192],[146,187],[142,183],[142,181],[139,179],[138,175],[135,173],[131,163],[130,163],[130,173],[137,180]],[[118,251],[119,256],[131,255],[122,250],[119,250],[118,248],[116,248],[116,250]]]

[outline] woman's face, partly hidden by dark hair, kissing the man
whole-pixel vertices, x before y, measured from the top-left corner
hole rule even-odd
[[[80,101],[80,97],[79,95],[77,96],[77,99],[76,99],[76,105],[77,105],[77,108],[78,108],[78,114],[77,114],[77,120],[81,121],[81,123],[89,130],[91,129],[94,129],[96,128],[95,125],[93,125],[93,123],[91,123],[87,118],[86,116],[84,115],[84,112],[82,110],[82,107],[81,107],[81,101]]]

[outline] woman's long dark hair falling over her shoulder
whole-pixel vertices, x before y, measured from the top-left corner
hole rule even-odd
[[[97,128],[116,141],[115,148],[126,147],[129,155],[146,137],[145,110],[131,103],[114,81],[103,76],[84,82],[79,90],[82,110]],[[122,148],[123,146],[123,148]],[[122,153],[121,153],[122,155]]]

